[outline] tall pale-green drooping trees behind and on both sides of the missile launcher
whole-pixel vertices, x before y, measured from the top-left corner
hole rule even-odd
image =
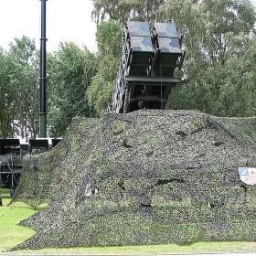
[[[253,101],[256,16],[251,1],[94,0],[93,4],[96,21],[107,16],[111,18],[98,27],[101,63],[106,62],[105,58],[110,59],[108,55],[115,55],[112,48],[121,40],[121,34],[120,37],[112,35],[114,29],[119,31],[113,26],[115,21],[112,19],[121,22],[127,19],[156,19],[160,22],[172,19],[184,36],[184,47],[187,48],[187,58],[182,69],[182,74],[187,77],[187,85],[172,91],[171,107],[197,109],[221,116],[256,114]],[[112,64],[110,67],[114,66]],[[114,73],[112,75],[112,80],[105,80],[106,74],[99,69],[91,91],[88,91],[89,101],[98,113],[104,112],[107,101],[111,101]]]

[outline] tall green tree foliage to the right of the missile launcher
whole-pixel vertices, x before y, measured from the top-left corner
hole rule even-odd
[[[190,44],[191,39],[188,39],[188,45],[185,40],[188,48],[185,69],[189,82],[187,86],[173,91],[173,107],[198,109],[221,116],[248,115],[253,108],[251,103],[247,109],[246,102],[253,94],[249,85],[253,82],[255,66],[251,69],[251,81],[249,77],[242,79],[246,72],[241,73],[238,67],[245,69],[246,59],[243,56],[248,54],[249,47],[252,56],[255,51],[252,46],[255,37],[251,35],[255,10],[251,2],[206,0],[200,5],[189,5],[198,10],[200,23],[205,28],[196,26],[197,37],[189,33],[188,37],[194,40],[193,45]]]

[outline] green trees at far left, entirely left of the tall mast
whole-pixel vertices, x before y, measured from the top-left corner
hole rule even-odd
[[[35,41],[15,38],[0,52],[0,135],[37,135],[37,62]]]

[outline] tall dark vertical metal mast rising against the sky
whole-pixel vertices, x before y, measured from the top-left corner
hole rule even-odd
[[[47,1],[41,1],[39,137],[47,137]]]

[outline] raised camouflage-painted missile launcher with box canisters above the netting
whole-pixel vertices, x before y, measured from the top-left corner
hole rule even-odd
[[[168,96],[178,83],[186,52],[176,25],[129,21],[123,31],[123,53],[109,112],[169,109]]]

